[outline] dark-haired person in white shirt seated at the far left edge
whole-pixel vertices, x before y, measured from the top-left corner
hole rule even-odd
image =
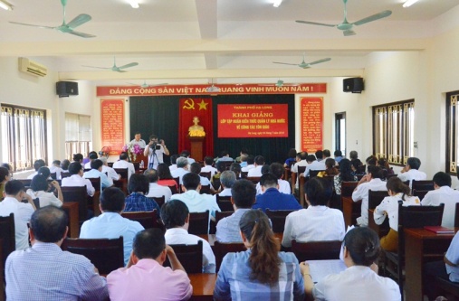
[[[5,199],[0,202],[0,216],[14,213],[14,232],[16,249],[29,248],[27,222],[35,211],[32,197],[24,192],[24,184],[18,180],[5,183]],[[24,199],[27,203],[22,202]]]

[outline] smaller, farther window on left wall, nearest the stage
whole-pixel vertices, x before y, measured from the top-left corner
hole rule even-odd
[[[91,149],[91,117],[65,113],[65,157],[86,156]]]

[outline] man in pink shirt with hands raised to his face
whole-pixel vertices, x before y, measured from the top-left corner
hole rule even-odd
[[[163,267],[169,259],[171,268]],[[110,301],[187,300],[193,293],[185,268],[174,249],[167,246],[162,230],[137,233],[129,263],[107,276]]]

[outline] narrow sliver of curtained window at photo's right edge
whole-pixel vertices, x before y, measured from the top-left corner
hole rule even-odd
[[[446,173],[457,174],[459,91],[446,93]]]

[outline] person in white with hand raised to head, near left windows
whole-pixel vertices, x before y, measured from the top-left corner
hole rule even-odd
[[[53,192],[50,192],[51,185],[57,192],[57,197]],[[33,199],[38,198],[40,203],[40,208],[45,206],[56,206],[62,207],[63,196],[61,191],[61,186],[56,180],[53,180],[48,183],[46,177],[43,174],[37,174],[33,177],[32,182],[30,183],[30,188],[27,189],[27,194],[29,194]]]

